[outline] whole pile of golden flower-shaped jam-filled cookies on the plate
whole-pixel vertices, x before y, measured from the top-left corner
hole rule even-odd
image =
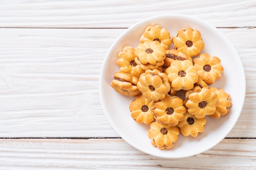
[[[171,43],[174,49],[169,49]],[[130,103],[131,117],[150,124],[148,137],[161,150],[173,148],[180,133],[201,134],[206,116],[218,119],[229,113],[230,95],[209,87],[221,78],[221,60],[201,53],[203,49],[198,30],[179,29],[171,38],[167,29],[155,25],[146,27],[137,47],[125,46],[118,53],[120,71],[111,86],[136,97]]]

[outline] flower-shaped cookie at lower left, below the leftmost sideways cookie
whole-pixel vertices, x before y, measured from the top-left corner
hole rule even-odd
[[[154,120],[154,104],[153,100],[146,99],[142,94],[138,95],[129,106],[132,119],[139,124],[151,124]]]

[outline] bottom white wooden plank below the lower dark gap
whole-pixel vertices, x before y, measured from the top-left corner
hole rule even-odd
[[[0,169],[254,170],[256,139],[224,139],[182,159],[147,155],[123,139],[1,139]]]

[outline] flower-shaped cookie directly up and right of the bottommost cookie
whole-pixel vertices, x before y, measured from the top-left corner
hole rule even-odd
[[[180,133],[183,136],[196,137],[204,131],[205,124],[205,117],[198,119],[194,115],[186,112],[184,114],[184,119],[180,121],[177,126],[180,128]]]

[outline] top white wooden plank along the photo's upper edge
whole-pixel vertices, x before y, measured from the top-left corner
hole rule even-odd
[[[166,13],[191,15],[216,27],[245,27],[256,26],[255,4],[255,0],[3,0],[0,27],[127,28]]]

